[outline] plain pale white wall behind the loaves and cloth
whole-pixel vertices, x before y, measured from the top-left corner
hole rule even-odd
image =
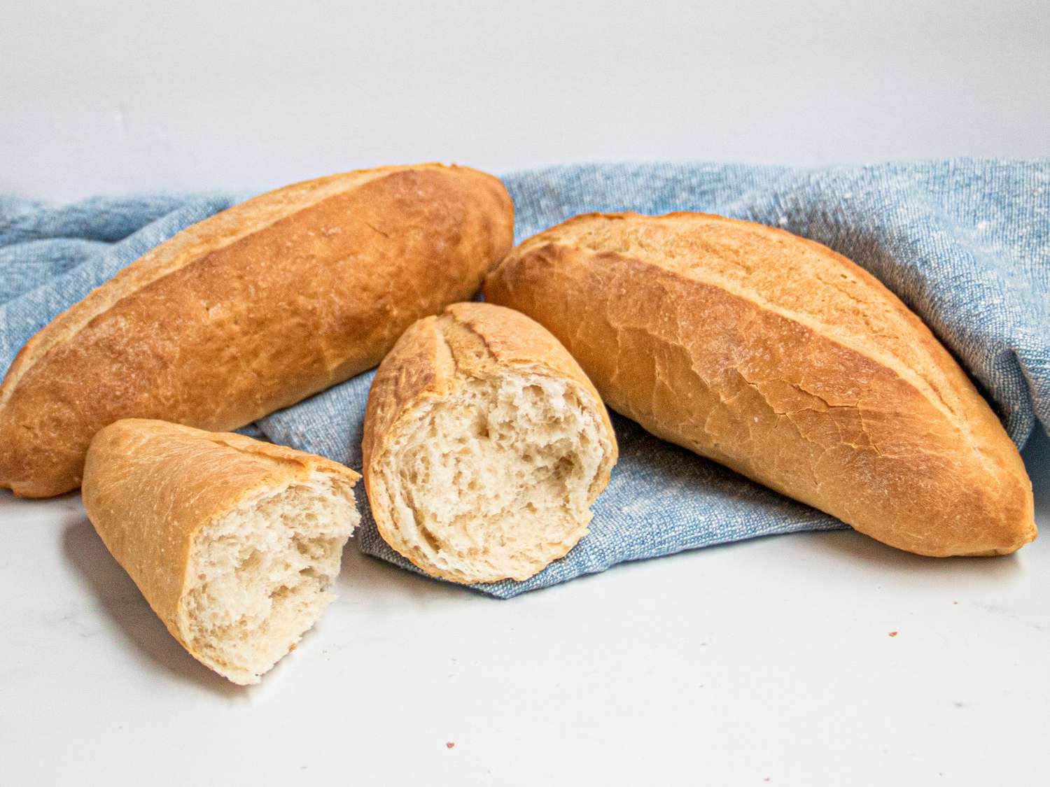
[[[1046,0],[0,4],[0,190],[1050,153]]]

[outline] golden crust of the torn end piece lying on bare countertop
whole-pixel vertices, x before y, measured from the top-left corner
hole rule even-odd
[[[346,486],[360,477],[336,462],[242,434],[124,419],[91,441],[82,492],[110,553],[171,635],[207,663],[178,625],[196,533],[255,494],[315,483],[319,473]]]

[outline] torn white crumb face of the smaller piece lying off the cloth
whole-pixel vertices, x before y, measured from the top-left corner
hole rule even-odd
[[[328,589],[358,519],[351,485],[317,472],[201,528],[180,604],[190,653],[234,683],[258,683],[335,599]]]

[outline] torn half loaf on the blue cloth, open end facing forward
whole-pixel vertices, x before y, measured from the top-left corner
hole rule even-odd
[[[455,582],[527,579],[587,533],[616,439],[597,391],[545,328],[487,303],[412,325],[364,419],[380,535]]]

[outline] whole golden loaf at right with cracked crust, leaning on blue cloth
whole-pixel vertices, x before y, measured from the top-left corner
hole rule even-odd
[[[987,403],[820,243],[698,213],[576,216],[484,292],[554,334],[612,409],[862,533],[937,556],[1035,537],[1031,482]]]

